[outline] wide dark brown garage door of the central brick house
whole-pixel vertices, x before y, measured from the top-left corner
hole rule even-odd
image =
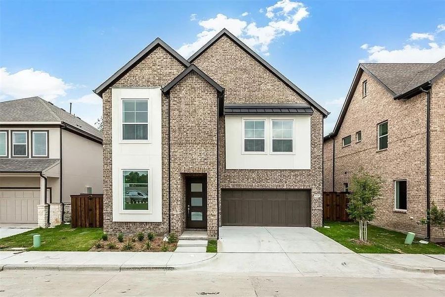
[[[311,226],[306,190],[223,190],[223,226]]]

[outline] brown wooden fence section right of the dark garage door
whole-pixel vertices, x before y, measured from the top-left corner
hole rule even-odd
[[[348,222],[348,192],[323,192],[323,221]]]

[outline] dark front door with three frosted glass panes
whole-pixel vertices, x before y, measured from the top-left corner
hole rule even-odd
[[[187,228],[207,229],[207,179],[189,178],[186,187]]]

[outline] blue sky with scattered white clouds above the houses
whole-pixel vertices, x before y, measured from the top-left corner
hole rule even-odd
[[[359,61],[445,57],[445,1],[0,2],[0,100],[41,96],[89,123],[96,88],[156,37],[189,55],[227,27],[331,115]]]

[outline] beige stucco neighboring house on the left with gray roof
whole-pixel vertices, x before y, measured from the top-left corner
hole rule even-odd
[[[39,97],[0,102],[0,223],[70,221],[88,192],[102,193],[102,133]]]

